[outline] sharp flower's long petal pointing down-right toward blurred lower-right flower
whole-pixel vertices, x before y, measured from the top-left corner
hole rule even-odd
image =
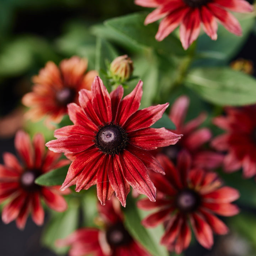
[[[156,188],[150,180],[148,171],[136,156],[124,150],[119,155],[122,170],[126,181],[140,194],[145,194],[150,201],[155,201]]]

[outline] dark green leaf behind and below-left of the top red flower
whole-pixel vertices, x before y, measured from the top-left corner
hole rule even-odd
[[[158,42],[155,34],[158,31],[158,23],[144,25],[147,13],[134,13],[105,21],[105,25],[125,37],[135,47],[154,48],[162,54],[186,55],[180,41],[172,34],[165,40]]]

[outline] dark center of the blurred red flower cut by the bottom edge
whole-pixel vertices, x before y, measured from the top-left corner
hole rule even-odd
[[[131,241],[132,237],[122,223],[117,223],[107,229],[107,242],[112,248],[128,245]]]

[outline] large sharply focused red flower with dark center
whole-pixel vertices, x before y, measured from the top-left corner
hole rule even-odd
[[[149,128],[161,118],[168,103],[138,110],[142,97],[142,81],[126,97],[123,87],[108,94],[96,77],[91,91],[79,92],[80,106],[68,105],[73,126],[55,130],[46,145],[54,152],[71,154],[74,159],[61,189],[76,184],[76,191],[97,184],[102,204],[113,192],[123,206],[130,185],[155,201],[155,186],[148,170],[163,173],[159,162],[147,151],[175,144],[181,135],[165,128]]]

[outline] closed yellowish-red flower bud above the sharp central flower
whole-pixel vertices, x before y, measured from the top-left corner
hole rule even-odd
[[[128,55],[115,58],[110,64],[110,77],[116,84],[127,81],[133,73],[133,62]]]

